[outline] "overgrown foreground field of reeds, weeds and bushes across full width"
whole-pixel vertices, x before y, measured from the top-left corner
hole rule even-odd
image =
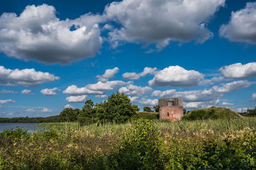
[[[256,119],[42,123],[0,133],[0,169],[255,169]]]

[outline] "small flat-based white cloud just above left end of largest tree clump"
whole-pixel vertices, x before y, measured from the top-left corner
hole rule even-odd
[[[95,91],[95,90],[88,89],[86,87],[77,88],[76,85],[68,86],[68,88],[65,89],[63,93],[67,95],[102,95],[104,94],[103,91]]]

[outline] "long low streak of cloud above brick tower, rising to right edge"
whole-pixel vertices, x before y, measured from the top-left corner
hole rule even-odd
[[[233,81],[221,86],[213,86],[210,89],[193,90],[193,91],[176,91],[169,89],[166,91],[153,91],[152,97],[169,97],[169,98],[183,98],[184,102],[209,102],[218,100],[223,97],[224,93],[237,91],[239,88],[248,88],[255,82],[249,81]]]

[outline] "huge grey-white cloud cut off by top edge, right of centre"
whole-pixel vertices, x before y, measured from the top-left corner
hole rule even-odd
[[[213,36],[205,23],[224,4],[225,0],[113,2],[104,15],[121,27],[109,33],[109,41],[113,47],[123,41],[157,43],[159,50],[171,41],[203,43]]]

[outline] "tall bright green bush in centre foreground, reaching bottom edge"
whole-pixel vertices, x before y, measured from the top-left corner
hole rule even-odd
[[[120,142],[120,150],[113,156],[113,169],[163,169],[161,148],[156,124],[149,120],[136,120]]]

